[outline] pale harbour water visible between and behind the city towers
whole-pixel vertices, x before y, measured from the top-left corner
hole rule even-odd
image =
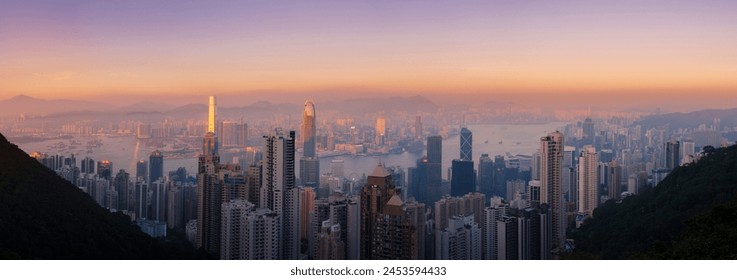
[[[565,126],[566,123],[555,122],[546,124],[482,124],[482,125],[469,125],[468,129],[473,133],[473,159],[478,163],[478,159],[481,154],[489,154],[490,157],[495,155],[505,155],[507,153],[512,155],[522,154],[531,155],[540,146],[540,137],[547,135],[550,132],[558,130]],[[84,144],[92,139],[100,139],[102,145],[95,147],[92,153],[87,153],[88,150],[84,147]],[[68,156],[74,153],[77,162],[89,156],[95,161],[99,160],[110,160],[113,162],[113,167],[117,172],[118,169],[126,169],[129,173],[135,173],[136,162],[139,159],[148,159],[148,155],[154,150],[147,148],[141,144],[136,138],[130,137],[112,137],[112,136],[100,136],[100,137],[75,137],[82,143],[81,146],[76,148],[50,148],[60,140],[48,140],[43,142],[34,142],[20,144],[19,147],[27,153],[39,151],[47,153],[49,155],[64,155]],[[69,142],[65,140],[64,142]],[[443,139],[443,178],[447,177],[448,168],[451,165],[453,159],[460,157],[460,136],[454,135]],[[403,152],[400,154],[387,154],[387,155],[375,155],[375,156],[335,156],[325,157],[320,159],[321,172],[326,172],[330,168],[332,160],[340,159],[343,160],[344,172],[347,177],[351,174],[354,176],[362,176],[363,174],[370,174],[374,167],[378,163],[383,163],[386,166],[399,166],[406,170],[408,167],[415,166],[417,159],[424,155],[422,153],[410,153]],[[296,169],[299,170],[299,154],[297,154]],[[221,161],[230,161],[230,158],[221,158]],[[176,170],[179,167],[185,167],[188,174],[195,174],[197,168],[197,159],[191,158],[166,158],[164,160],[164,171]],[[446,178],[447,179],[447,178]]]

